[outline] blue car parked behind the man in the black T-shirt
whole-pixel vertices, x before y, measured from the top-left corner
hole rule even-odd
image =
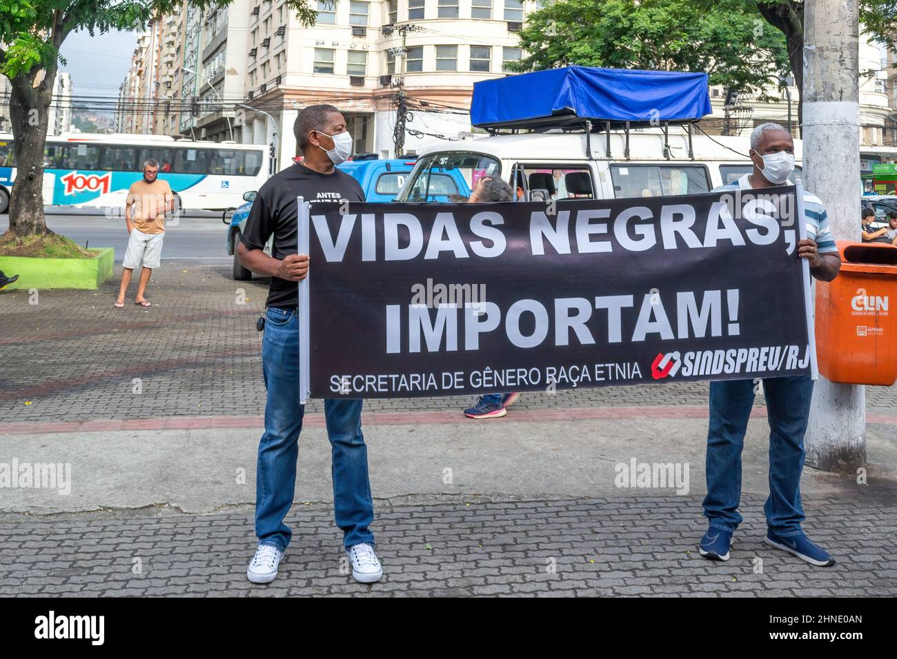
[[[364,158],[349,160],[338,166],[346,174],[350,174],[361,185],[364,198],[369,202],[391,202],[396,199],[398,191],[405,185],[405,178],[414,169],[414,157],[377,160]],[[238,282],[252,279],[252,272],[243,267],[237,258],[237,243],[243,235],[249,210],[256,199],[256,192],[243,195],[245,204],[222,213],[222,221],[228,225],[227,253],[233,257],[233,278]],[[265,253],[271,255],[271,240],[265,246]]]

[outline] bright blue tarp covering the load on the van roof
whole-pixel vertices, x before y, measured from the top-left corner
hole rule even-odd
[[[565,66],[474,83],[471,124],[536,128],[563,120],[648,124],[710,114],[707,74]]]

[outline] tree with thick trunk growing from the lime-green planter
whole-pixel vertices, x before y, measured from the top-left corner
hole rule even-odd
[[[188,0],[208,9],[231,0]],[[318,13],[308,0],[287,0],[309,26]],[[74,30],[91,36],[144,28],[155,15],[179,13],[180,0],[0,0],[0,74],[12,85],[10,118],[17,169],[9,207],[9,230],[17,236],[52,233],[44,221],[43,156],[48,108],[59,48]]]

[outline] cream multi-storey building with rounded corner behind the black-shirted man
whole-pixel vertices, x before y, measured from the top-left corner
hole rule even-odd
[[[243,141],[270,143],[281,167],[296,155],[292,123],[301,108],[342,109],[355,152],[395,155],[397,82],[410,116],[405,152],[433,135],[469,131],[473,83],[503,75],[520,58],[517,31],[527,0],[318,0],[303,28],[283,0],[249,0]],[[250,128],[251,126],[251,128]],[[264,137],[263,137],[264,136]]]

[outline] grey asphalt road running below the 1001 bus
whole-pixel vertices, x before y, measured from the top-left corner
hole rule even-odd
[[[107,217],[97,209],[47,209],[50,230],[72,238],[80,245],[115,247],[115,262],[121,264],[127,247],[125,220]],[[9,228],[9,215],[0,215],[0,233]],[[162,259],[227,264],[227,225],[221,212],[190,212],[177,223],[170,221],[165,231]]]

